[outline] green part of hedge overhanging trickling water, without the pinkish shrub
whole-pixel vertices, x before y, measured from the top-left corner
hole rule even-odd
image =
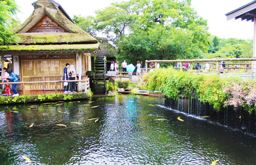
[[[196,75],[189,72],[175,71],[173,69],[163,69],[145,74],[140,82],[140,89],[162,91],[165,96],[171,99],[177,99],[180,96],[186,98],[196,96],[197,99],[203,103],[209,103],[213,105],[215,110],[220,110],[221,107],[228,105],[225,104],[225,102],[228,99],[227,96],[229,93],[226,93],[223,89],[227,87],[228,84],[235,81],[242,80],[234,77]],[[255,82],[251,82],[251,80],[247,81],[249,81],[250,84],[254,84],[254,86],[256,84]],[[256,88],[254,88],[254,90],[256,91]],[[250,100],[250,104],[253,103],[253,99],[251,98],[253,98],[253,96],[248,99]],[[250,106],[250,108],[253,107]]]

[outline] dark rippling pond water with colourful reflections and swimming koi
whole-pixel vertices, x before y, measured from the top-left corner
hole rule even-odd
[[[255,137],[151,105],[163,102],[118,95],[1,106],[0,165],[29,164],[22,156],[32,165],[256,165]]]

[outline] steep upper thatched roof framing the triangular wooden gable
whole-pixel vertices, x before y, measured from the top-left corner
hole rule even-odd
[[[53,0],[37,0],[32,4],[35,8],[31,16],[14,33],[18,33],[19,44],[69,44],[98,43],[97,39],[79,28],[64,9]],[[67,33],[28,33],[42,18],[48,16]]]

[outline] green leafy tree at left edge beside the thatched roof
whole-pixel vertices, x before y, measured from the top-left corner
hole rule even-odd
[[[13,35],[13,16],[17,12],[17,5],[14,0],[0,0],[0,44],[7,45],[16,43],[17,37]]]

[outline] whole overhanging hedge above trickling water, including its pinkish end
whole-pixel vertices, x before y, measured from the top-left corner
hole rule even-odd
[[[144,75],[139,84],[142,90],[161,91],[171,99],[197,97],[203,103],[221,107],[243,106],[250,113],[256,110],[256,81],[239,77],[220,77],[162,69]]]

